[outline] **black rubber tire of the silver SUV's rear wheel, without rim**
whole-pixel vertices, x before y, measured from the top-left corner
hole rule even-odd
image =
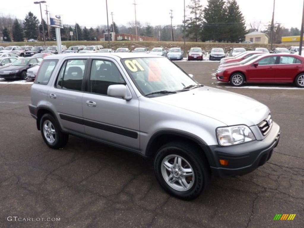
[[[47,140],[47,138],[44,136],[43,123],[45,123],[45,121],[50,121],[52,123],[53,127],[54,127],[55,132],[56,132],[55,141],[53,143],[50,143]],[[59,127],[59,124],[57,123],[56,119],[48,113],[44,114],[40,119],[40,131],[41,131],[41,135],[42,135],[42,138],[43,138],[44,142],[52,149],[63,148],[64,145],[67,143],[67,141],[69,139],[69,135],[65,134],[65,133],[62,133],[60,131],[60,127]]]

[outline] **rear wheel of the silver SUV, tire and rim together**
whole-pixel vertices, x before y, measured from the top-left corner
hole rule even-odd
[[[50,114],[44,114],[40,119],[40,131],[44,142],[53,149],[64,147],[69,135],[60,131],[59,124]]]

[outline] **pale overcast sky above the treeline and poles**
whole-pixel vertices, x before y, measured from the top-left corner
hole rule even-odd
[[[34,5],[34,0],[11,0],[0,4],[0,15],[16,16],[24,19],[32,11],[39,19],[39,5]],[[173,24],[182,24],[184,16],[183,0],[136,0],[136,18],[141,23],[149,22],[150,25],[170,24],[169,10],[173,10]],[[250,22],[260,22],[267,26],[271,22],[273,0],[237,0],[246,19],[247,26]],[[126,25],[134,21],[134,0],[108,0],[109,24],[113,19],[118,25]],[[186,0],[186,6],[190,0]],[[207,0],[201,0],[205,6]],[[97,26],[107,23],[105,0],[47,0],[48,10],[63,15],[64,24],[79,23],[81,26]],[[45,4],[42,4],[45,10]],[[303,0],[276,0],[275,22],[281,23],[286,28],[301,27]],[[187,10],[186,10],[187,15]],[[43,18],[46,14],[43,11]]]

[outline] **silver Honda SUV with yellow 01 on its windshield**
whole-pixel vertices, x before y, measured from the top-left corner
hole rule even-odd
[[[153,159],[167,192],[187,200],[206,189],[211,174],[263,165],[280,136],[267,106],[200,85],[150,54],[48,56],[29,111],[49,147],[64,147],[73,134],[135,152]]]

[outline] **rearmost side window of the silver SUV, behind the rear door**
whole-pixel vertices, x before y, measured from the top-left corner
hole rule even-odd
[[[53,71],[58,63],[58,60],[56,59],[50,59],[50,60],[43,60],[39,71],[36,76],[36,80],[34,83],[47,85],[47,83],[50,81],[51,75],[53,74]]]

